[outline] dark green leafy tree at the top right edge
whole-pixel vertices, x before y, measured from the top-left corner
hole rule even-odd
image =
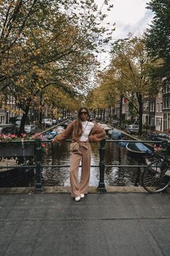
[[[148,9],[154,13],[153,21],[146,30],[146,46],[150,56],[158,61],[153,69],[152,77],[154,82],[158,78],[170,77],[170,1],[151,0],[148,2]]]

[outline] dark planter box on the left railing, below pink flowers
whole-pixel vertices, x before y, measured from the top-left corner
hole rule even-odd
[[[0,157],[17,157],[35,155],[35,145],[12,145],[12,143],[0,143]]]

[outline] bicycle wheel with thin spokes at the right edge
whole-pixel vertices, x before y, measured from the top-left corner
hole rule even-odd
[[[169,187],[168,164],[161,159],[150,163],[142,174],[142,185],[146,191],[158,193]]]

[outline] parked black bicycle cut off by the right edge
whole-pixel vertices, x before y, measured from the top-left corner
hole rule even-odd
[[[143,171],[142,186],[151,193],[163,192],[170,185],[170,157],[167,152],[169,142],[161,142],[162,153],[156,153],[155,161],[151,162]]]

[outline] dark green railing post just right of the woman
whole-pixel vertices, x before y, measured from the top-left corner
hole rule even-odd
[[[100,148],[99,148],[99,186],[97,187],[97,191],[104,193],[107,192],[104,184],[104,148],[105,145],[105,139],[100,142]]]

